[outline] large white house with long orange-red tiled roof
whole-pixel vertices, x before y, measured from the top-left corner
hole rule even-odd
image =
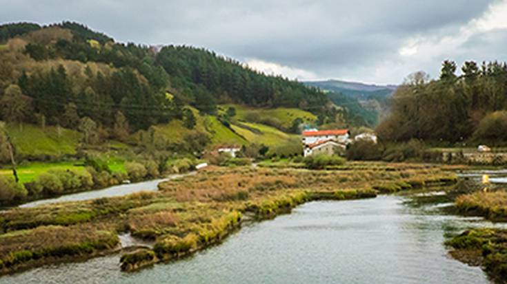
[[[310,130],[303,132],[304,157],[316,154],[333,155],[350,143],[348,129]]]

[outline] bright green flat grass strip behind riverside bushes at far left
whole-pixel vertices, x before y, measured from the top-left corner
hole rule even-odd
[[[20,182],[32,182],[41,173],[47,173],[50,170],[70,170],[70,171],[86,171],[85,167],[80,165],[81,162],[32,162],[18,166],[17,173]],[[0,168],[0,175],[12,176],[12,170],[4,167]]]

